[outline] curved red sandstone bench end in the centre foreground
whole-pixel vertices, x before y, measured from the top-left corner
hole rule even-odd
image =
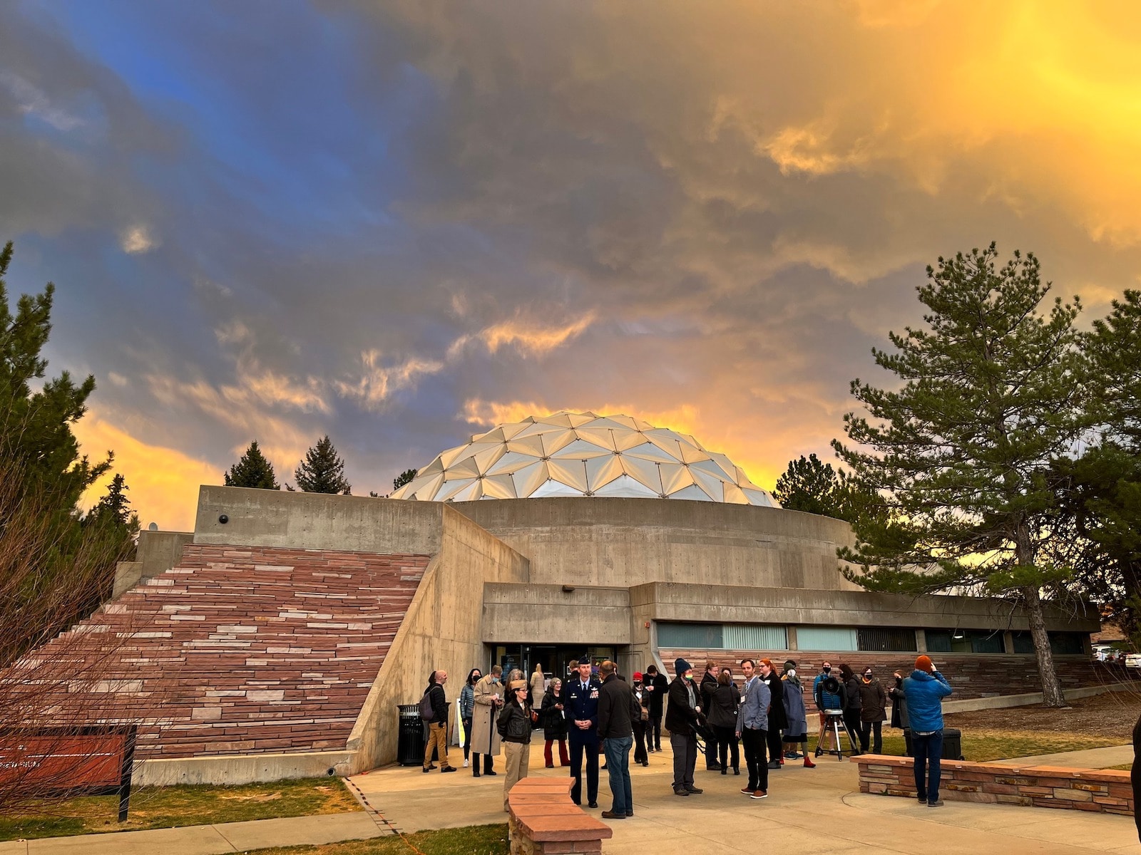
[[[569,777],[524,777],[508,793],[511,855],[602,850],[609,825],[570,800]]]

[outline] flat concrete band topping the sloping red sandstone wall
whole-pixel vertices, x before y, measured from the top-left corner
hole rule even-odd
[[[203,486],[194,543],[435,555],[443,513],[435,502]]]

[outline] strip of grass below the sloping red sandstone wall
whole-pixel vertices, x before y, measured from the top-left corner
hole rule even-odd
[[[361,806],[339,777],[240,787],[139,787],[131,792],[127,822],[118,821],[119,797],[86,796],[30,806],[19,815],[0,816],[0,840],[169,829],[359,809]]]

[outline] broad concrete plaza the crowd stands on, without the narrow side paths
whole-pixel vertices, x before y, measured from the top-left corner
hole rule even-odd
[[[631,767],[634,816],[610,823],[614,838],[604,842],[604,853],[721,855],[769,848],[782,855],[1141,852],[1128,816],[969,803],[930,808],[911,799],[860,793],[857,766],[847,759],[825,757],[815,769],[788,760],[780,771],[769,773],[769,798],[753,800],[739,792],[744,775],[705,772],[702,758],[696,783],[705,792],[678,798],[671,788],[669,749],[649,758],[648,768]],[[542,765],[542,743],[532,744],[532,775],[567,774]],[[387,767],[353,781],[372,807],[402,831],[478,825],[505,817],[502,775],[472,779],[470,769],[424,775],[419,767]],[[588,813],[598,816],[610,807],[605,772],[600,773],[598,804],[599,809]]]

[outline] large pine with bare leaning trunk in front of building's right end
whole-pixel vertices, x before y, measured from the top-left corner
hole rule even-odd
[[[833,441],[856,478],[887,497],[891,524],[858,519],[845,575],[871,591],[957,589],[1022,604],[1043,699],[1065,703],[1043,616],[1067,581],[1052,561],[1058,530],[1051,464],[1089,423],[1081,398],[1074,319],[1078,303],[1041,304],[1038,262],[1014,253],[996,269],[994,244],[939,259],[919,291],[926,328],[890,334],[897,352],[873,350],[898,390],[856,380],[874,422],[849,413]]]

